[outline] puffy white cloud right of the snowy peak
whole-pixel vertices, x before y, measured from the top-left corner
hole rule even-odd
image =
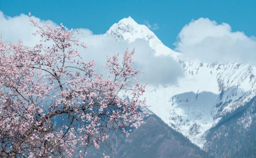
[[[176,50],[190,58],[208,62],[255,64],[256,41],[243,32],[232,32],[227,23],[217,24],[208,18],[192,20],[180,31]]]

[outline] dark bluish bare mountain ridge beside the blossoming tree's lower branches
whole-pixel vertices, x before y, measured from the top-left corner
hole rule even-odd
[[[210,157],[206,152],[192,144],[182,134],[166,125],[156,115],[145,119],[146,124],[133,130],[129,136],[116,133],[112,145],[112,153],[105,145],[104,149],[95,152],[89,149],[88,157],[101,157],[102,152],[113,158],[205,158]],[[102,149],[101,148],[101,149]]]

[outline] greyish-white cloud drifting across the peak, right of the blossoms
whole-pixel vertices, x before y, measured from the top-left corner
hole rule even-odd
[[[119,53],[122,57],[126,48],[134,53],[134,67],[140,69],[144,74],[138,75],[137,78],[143,83],[154,85],[167,85],[175,83],[178,77],[183,76],[184,70],[180,64],[173,60],[170,56],[155,56],[153,50],[143,39],[137,39],[134,42],[116,41],[110,34],[105,35],[88,35],[83,40],[87,49],[81,51],[81,56],[86,59],[96,59],[97,69],[104,71],[100,67],[106,62],[105,55],[112,56],[113,52]]]

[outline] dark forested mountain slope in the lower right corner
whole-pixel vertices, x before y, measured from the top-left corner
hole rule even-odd
[[[214,157],[256,157],[256,98],[228,113],[207,132],[204,149]]]

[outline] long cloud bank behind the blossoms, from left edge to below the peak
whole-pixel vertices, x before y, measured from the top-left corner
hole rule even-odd
[[[45,23],[45,21],[39,18],[33,18],[40,21],[41,26]],[[39,36],[35,37],[32,35],[36,28],[30,25],[31,23],[27,15],[20,14],[15,17],[6,17],[0,11],[0,23],[0,30],[3,32],[5,42],[16,42],[20,38],[25,44],[33,46],[40,40]],[[56,24],[53,23],[53,25]],[[98,65],[98,72],[106,72],[106,70],[101,68],[106,62],[106,55],[112,56],[115,51],[120,53],[121,58],[126,48],[129,50],[135,48],[135,68],[141,69],[144,72],[144,74],[138,76],[139,81],[165,86],[175,83],[177,78],[183,75],[180,64],[169,56],[155,56],[145,40],[139,39],[129,43],[126,41],[116,41],[110,34],[94,35],[88,29],[81,29],[81,32],[84,34],[76,36],[80,38],[80,41],[84,41],[88,48],[86,50],[79,48],[80,54],[86,61],[95,59]]]

